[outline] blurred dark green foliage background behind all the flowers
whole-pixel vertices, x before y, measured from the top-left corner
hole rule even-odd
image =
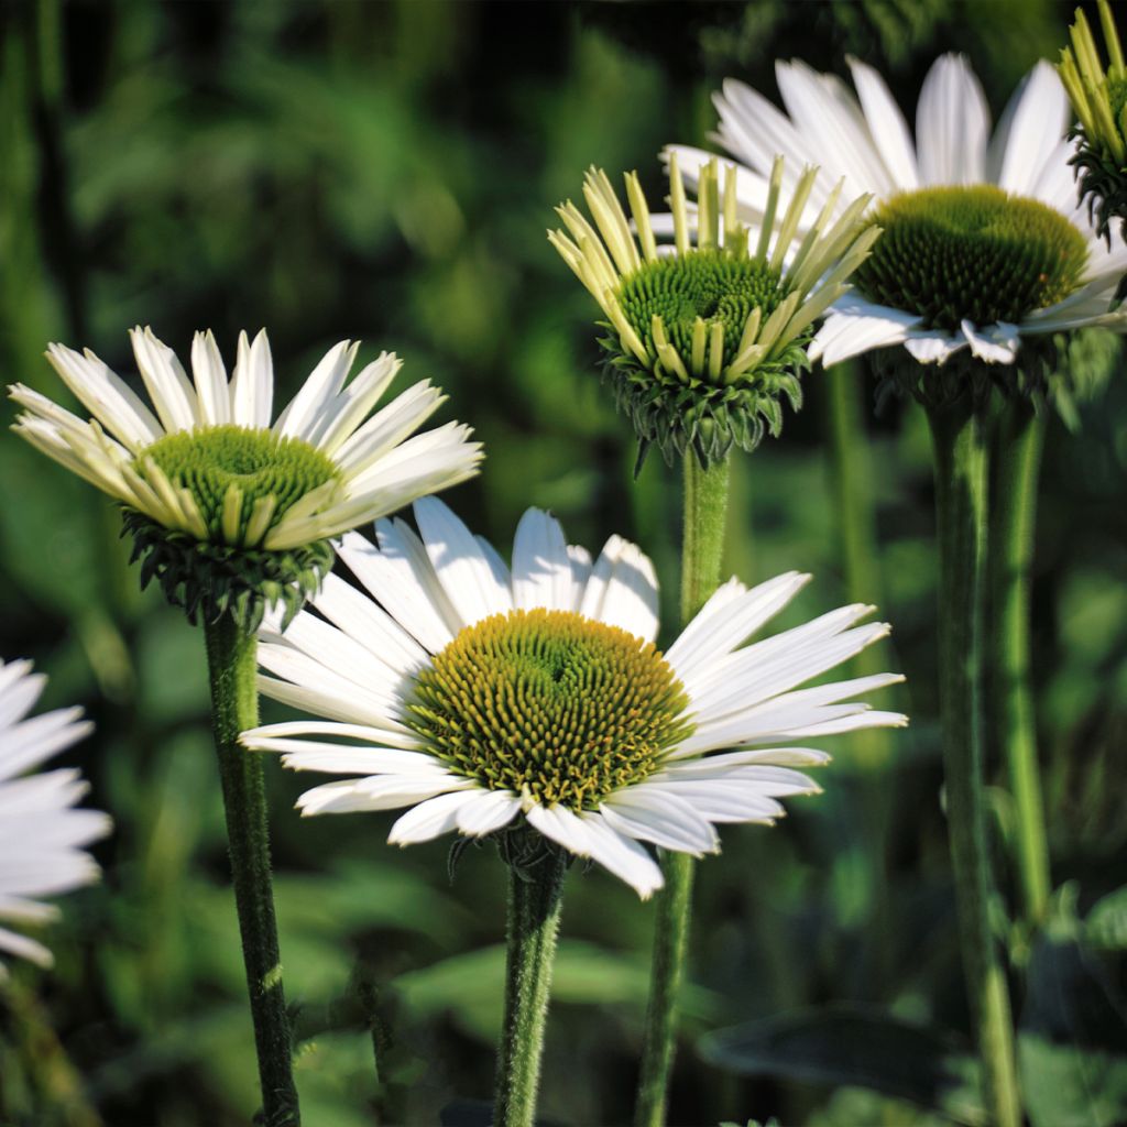
[[[240,328],[265,325],[292,389],[328,346],[358,336],[365,356],[398,350],[405,379],[434,378],[451,397],[443,417],[486,442],[483,476],[449,497],[476,531],[505,544],[526,506],[549,506],[573,540],[638,539],[671,593],[677,482],[651,459],[630,483],[632,441],[594,374],[594,309],[543,238],[552,205],[592,162],[638,168],[660,192],[660,145],[706,141],[709,92],[727,74],[773,95],[777,56],[841,73],[858,54],[912,106],[930,60],[962,50],[996,113],[1038,56],[1055,55],[1067,19],[1045,0],[11,2],[0,8],[3,372],[59,396],[48,340],[88,345],[125,374],[133,323],[181,355],[197,327],[230,353]],[[863,433],[849,456],[863,470],[870,573],[843,565],[820,372],[783,437],[737,463],[728,566],[748,580],[815,573],[796,615],[878,603],[896,628],[878,659],[908,674],[889,696],[913,727],[876,754],[838,740],[823,796],[792,802],[775,831],[727,831],[724,857],[701,867],[673,1122],[938,1122],[943,1109],[902,1102],[903,1085],[868,1077],[875,1094],[786,1062],[737,1076],[691,1042],[829,1002],[933,1024],[944,1045],[967,1028],[934,730],[926,437],[904,405],[873,417],[871,380],[854,376],[846,399]],[[1083,438],[1055,426],[1046,459],[1035,676],[1055,876],[1076,882],[1081,915],[1104,897],[1092,928],[1113,961],[1122,902],[1107,897],[1127,845],[1124,372],[1075,411]],[[0,655],[51,675],[46,704],[86,706],[96,735],[66,758],[117,824],[98,849],[104,882],[69,897],[51,932],[56,969],[18,968],[0,1004],[0,1121],[245,1124],[254,1062],[202,639],[158,593],[137,592],[117,516],[87,486],[11,436],[0,481]],[[993,770],[1001,846],[1008,797]],[[497,859],[468,851],[451,882],[443,845],[392,853],[381,816],[300,824],[302,780],[269,777],[307,1121],[433,1124],[455,1099],[488,1099]],[[1000,873],[1009,895],[1004,862]],[[547,1119],[629,1119],[651,917],[601,871],[569,878]],[[1072,926],[1014,937],[1013,950],[1079,975]],[[1099,988],[1111,985],[1104,975]],[[1015,990],[1044,1035],[1023,1041],[1040,1068],[1036,1054],[1067,1047],[1074,1015],[1046,1015],[1024,977]]]

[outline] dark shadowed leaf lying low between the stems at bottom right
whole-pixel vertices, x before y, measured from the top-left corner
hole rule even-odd
[[[952,1035],[863,1006],[802,1010],[718,1029],[698,1048],[710,1064],[744,1076],[869,1088],[957,1122],[986,1121],[977,1066]]]

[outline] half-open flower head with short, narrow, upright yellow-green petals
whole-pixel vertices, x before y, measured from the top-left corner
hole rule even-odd
[[[594,168],[584,183],[594,225],[569,202],[557,208],[567,230],[548,238],[606,314],[606,373],[641,456],[657,443],[667,461],[692,447],[709,464],[733,443],[753,450],[765,431],[779,433],[781,398],[800,402],[814,322],[878,232],[864,230],[868,198],[842,199],[841,184],[799,232],[816,168],[784,193],[774,166],[756,230],[737,218],[730,169],[722,189],[715,161],[701,169],[695,215],[675,159],[669,176],[672,245],[657,241],[637,174],[625,177],[631,228]]]

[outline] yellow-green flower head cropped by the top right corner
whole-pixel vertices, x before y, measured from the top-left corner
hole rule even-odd
[[[1057,73],[1080,121],[1072,158],[1079,169],[1080,197],[1088,201],[1097,231],[1110,240],[1111,220],[1120,221],[1121,233],[1127,219],[1127,66],[1111,7],[1108,0],[1099,0],[1099,5],[1110,59],[1107,69],[1100,62],[1088,17],[1077,8],[1072,46],[1061,52]]]

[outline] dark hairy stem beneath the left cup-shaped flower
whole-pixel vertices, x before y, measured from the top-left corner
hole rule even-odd
[[[261,1121],[265,1127],[298,1127],[301,1112],[293,1082],[290,1018],[274,920],[266,788],[261,761],[238,743],[241,731],[258,724],[258,644],[254,633],[243,632],[229,614],[205,625],[204,639],[234,904],[255,1023]]]

